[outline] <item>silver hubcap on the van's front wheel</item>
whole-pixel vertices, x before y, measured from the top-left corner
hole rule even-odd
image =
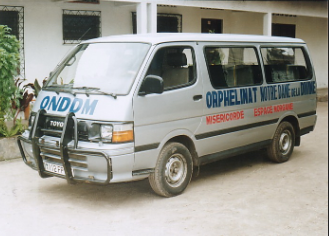
[[[165,177],[171,187],[177,187],[184,182],[187,174],[187,163],[183,155],[172,155],[166,164]]]

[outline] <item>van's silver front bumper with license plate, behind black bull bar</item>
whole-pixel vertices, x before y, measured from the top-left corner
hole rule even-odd
[[[98,144],[89,143],[82,143],[78,148],[68,145],[66,150],[61,150],[57,147],[59,142],[59,138],[54,137],[41,137],[34,141],[24,136],[17,139],[23,161],[38,171],[42,178],[57,176],[69,183],[95,184],[135,179],[132,176],[133,147],[121,151],[116,149],[119,155],[113,155],[113,150],[97,149]]]

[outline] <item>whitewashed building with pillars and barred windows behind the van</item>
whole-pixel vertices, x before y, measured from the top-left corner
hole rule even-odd
[[[327,1],[0,0],[0,24],[21,42],[21,76],[48,77],[78,42],[148,32],[235,33],[303,39],[318,88],[328,87]]]

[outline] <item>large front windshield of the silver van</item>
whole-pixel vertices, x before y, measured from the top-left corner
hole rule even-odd
[[[149,48],[146,43],[81,44],[54,71],[45,89],[126,95]]]

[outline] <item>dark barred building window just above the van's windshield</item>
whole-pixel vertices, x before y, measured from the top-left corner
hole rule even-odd
[[[100,36],[100,11],[63,10],[64,44],[76,44]]]

